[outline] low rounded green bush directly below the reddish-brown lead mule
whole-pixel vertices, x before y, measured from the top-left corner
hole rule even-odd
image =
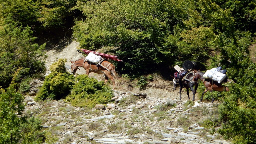
[[[96,104],[107,104],[111,102],[113,93],[110,87],[104,85],[103,81],[98,82],[87,75],[76,77],[78,81],[66,98],[73,106],[95,107]]]

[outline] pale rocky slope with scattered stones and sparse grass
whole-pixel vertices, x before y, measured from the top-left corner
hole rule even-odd
[[[49,50],[46,75],[49,74],[49,66],[59,58],[67,59],[66,68],[69,70],[69,59],[83,57],[76,51],[78,46],[73,41],[61,51]],[[81,69],[77,73],[84,74],[85,71]],[[104,80],[103,75],[91,73],[89,76]],[[179,90],[172,90],[171,82],[161,77],[150,82],[144,91],[131,87],[121,77],[116,78],[115,102],[97,105],[93,109],[73,107],[64,100],[34,101],[36,88],[42,83],[40,80],[31,82],[30,95],[25,98],[25,111],[42,119],[43,129],[50,133],[48,144],[229,143],[216,133],[216,128],[207,128],[201,123],[215,115],[218,103],[192,103],[187,100],[185,92],[179,101]],[[139,93],[144,95],[134,96]],[[164,110],[166,106],[169,107]]]

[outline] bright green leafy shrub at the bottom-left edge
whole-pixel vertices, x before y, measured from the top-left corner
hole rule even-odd
[[[0,143],[17,143],[20,124],[23,121],[23,96],[13,85],[0,93]]]

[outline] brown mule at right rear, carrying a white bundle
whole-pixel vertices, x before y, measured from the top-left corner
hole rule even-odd
[[[214,80],[211,80],[211,79],[205,79],[204,78],[204,74],[205,73],[203,73],[203,72],[201,72],[201,71],[197,71],[197,70],[194,70],[194,72],[195,72],[195,75],[194,75],[194,81],[197,81],[198,79],[200,79],[203,83],[204,83],[204,85],[205,85],[205,87],[206,87],[206,89],[205,89],[205,91],[202,93],[202,97],[201,97],[201,100],[200,101],[202,101],[202,99],[203,99],[203,96],[204,96],[204,94],[209,90],[210,92],[212,92],[212,90],[215,90],[215,91],[229,91],[229,88],[228,87],[226,87],[226,86],[222,86],[221,84],[219,84],[217,81],[214,81]],[[230,80],[230,79],[228,79],[227,80],[227,83],[230,83],[230,82],[232,82],[232,80]],[[214,101],[214,98],[212,98],[212,103],[213,103],[213,101]]]

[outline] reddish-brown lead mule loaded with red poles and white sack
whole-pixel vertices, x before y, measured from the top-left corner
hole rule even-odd
[[[111,64],[109,61],[104,60],[102,61],[101,65],[97,65],[91,62],[84,61],[85,58],[80,58],[76,61],[71,62],[71,73],[75,74],[78,67],[83,67],[86,70],[86,74],[89,75],[89,73],[94,72],[97,74],[103,74],[105,77],[104,84],[108,82],[108,78],[111,79],[113,83],[113,89],[115,89],[115,79],[111,76],[111,74],[116,77],[116,72],[115,72],[115,66]]]

